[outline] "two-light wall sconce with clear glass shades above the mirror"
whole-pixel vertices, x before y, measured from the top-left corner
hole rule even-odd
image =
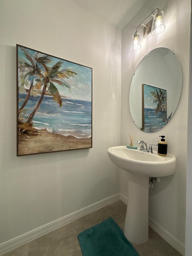
[[[143,22],[137,27],[136,32],[132,36],[131,51],[136,52],[141,49],[140,33],[137,30],[143,26],[143,38],[152,35],[160,35],[165,30],[164,12],[155,9]]]

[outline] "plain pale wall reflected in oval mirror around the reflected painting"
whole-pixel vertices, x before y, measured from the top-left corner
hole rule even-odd
[[[167,91],[167,119],[169,121],[177,109],[182,91],[182,70],[176,54],[164,47],[152,50],[140,61],[132,78],[129,92],[131,117],[140,130],[150,132],[142,125],[142,84]]]

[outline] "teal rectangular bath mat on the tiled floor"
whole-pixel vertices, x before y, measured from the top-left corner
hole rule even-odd
[[[113,218],[83,231],[77,237],[83,256],[139,256]]]

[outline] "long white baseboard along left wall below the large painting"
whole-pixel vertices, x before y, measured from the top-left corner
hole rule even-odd
[[[69,215],[66,215],[62,218],[52,221],[44,226],[38,227],[38,228],[36,228],[32,231],[29,231],[21,236],[17,236],[16,238],[6,241],[6,242],[0,244],[0,255],[4,254],[5,252],[10,251],[20,245],[30,242],[40,236],[43,236],[46,233],[49,233],[50,231],[57,229],[58,227],[68,224],[71,221],[81,218],[82,216],[85,216],[90,212],[94,212],[95,210],[98,210],[101,207],[104,207],[107,204],[113,203],[119,199],[120,199],[120,193],[113,195],[111,197],[108,197],[104,200],[101,200],[97,203],[91,204],[79,211],[73,212]]]

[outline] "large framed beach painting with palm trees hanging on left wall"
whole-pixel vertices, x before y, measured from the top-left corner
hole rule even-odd
[[[92,147],[92,68],[16,45],[17,156]]]

